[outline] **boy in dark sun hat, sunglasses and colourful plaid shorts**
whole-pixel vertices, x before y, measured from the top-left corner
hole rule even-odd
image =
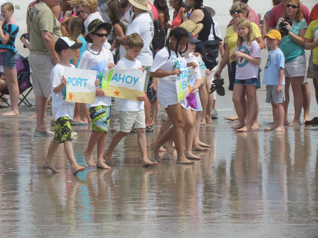
[[[111,24],[108,22],[102,22],[99,19],[91,21],[88,24],[88,33],[85,36],[85,40],[87,43],[92,44],[81,55],[79,61],[79,68],[97,71],[95,85],[98,85],[94,103],[86,104],[86,107],[89,109],[89,117],[91,119],[93,131],[83,155],[89,166],[105,170],[110,169],[110,167],[103,162],[103,153],[109,128],[111,98],[104,95],[104,91],[101,89],[101,83],[106,68],[115,66],[112,53],[103,48],[107,34],[110,30]],[[93,160],[93,149],[95,144],[97,144],[96,164]]]

